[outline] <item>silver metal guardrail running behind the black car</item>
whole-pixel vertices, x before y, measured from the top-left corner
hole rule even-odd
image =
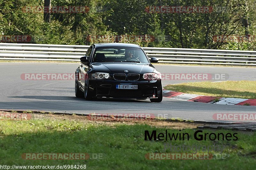
[[[0,43],[0,60],[79,61],[89,46]],[[159,63],[256,66],[256,51],[143,47]]]

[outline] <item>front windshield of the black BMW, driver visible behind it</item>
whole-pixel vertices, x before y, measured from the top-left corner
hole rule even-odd
[[[149,63],[145,53],[140,48],[133,47],[96,48],[92,61]]]

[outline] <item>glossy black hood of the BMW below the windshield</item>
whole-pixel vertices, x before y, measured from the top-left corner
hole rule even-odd
[[[134,62],[101,62],[101,63],[92,63],[90,64],[92,69],[97,72],[105,73],[152,73],[155,67],[147,63],[134,63]],[[124,72],[128,70],[128,72]]]

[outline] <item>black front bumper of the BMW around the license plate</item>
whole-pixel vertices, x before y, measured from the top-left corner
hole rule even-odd
[[[138,85],[138,89],[116,89],[116,85]],[[153,81],[116,81],[111,79],[90,80],[90,90],[97,98],[147,99],[157,98],[161,93],[161,79]]]

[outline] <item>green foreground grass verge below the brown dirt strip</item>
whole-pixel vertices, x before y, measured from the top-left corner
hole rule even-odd
[[[83,165],[86,169],[255,169],[255,132],[238,131],[237,141],[196,141],[196,129],[182,130],[190,139],[171,141],[172,145],[226,145],[223,153],[230,154],[222,160],[147,160],[146,153],[164,151],[163,141],[144,141],[145,130],[165,129],[148,125],[84,124],[75,121],[29,120],[1,121],[1,165]],[[227,130],[204,132],[234,133]],[[179,130],[169,129],[177,133]],[[169,142],[169,141],[168,141]],[[97,160],[24,160],[22,153],[102,153]]]

